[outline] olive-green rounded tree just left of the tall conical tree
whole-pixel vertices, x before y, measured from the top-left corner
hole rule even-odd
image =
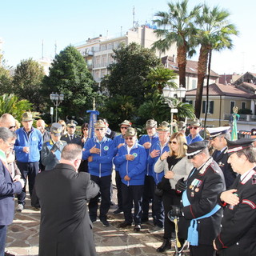
[[[33,103],[34,110],[38,111],[41,109],[43,102],[41,91],[44,75],[42,66],[32,58],[22,60],[14,71],[12,91],[19,98]]]

